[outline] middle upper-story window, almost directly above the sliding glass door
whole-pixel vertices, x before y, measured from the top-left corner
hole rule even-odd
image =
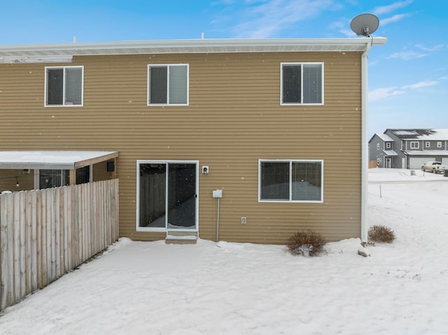
[[[148,65],[148,106],[188,105],[188,64]]]

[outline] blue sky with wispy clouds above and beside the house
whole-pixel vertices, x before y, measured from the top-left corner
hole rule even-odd
[[[369,134],[448,128],[446,0],[0,0],[0,45],[200,38],[356,37],[379,17],[369,53]]]

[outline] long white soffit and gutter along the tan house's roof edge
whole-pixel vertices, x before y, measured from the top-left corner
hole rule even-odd
[[[195,39],[169,41],[124,41],[0,45],[0,62],[23,57],[66,57],[77,55],[139,55],[204,52],[295,52],[365,51],[382,45],[387,38],[281,38],[281,39]]]

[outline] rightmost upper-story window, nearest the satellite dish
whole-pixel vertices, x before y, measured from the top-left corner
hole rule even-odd
[[[281,105],[323,104],[323,63],[281,63]]]

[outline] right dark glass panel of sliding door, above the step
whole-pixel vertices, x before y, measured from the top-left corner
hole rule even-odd
[[[168,164],[168,229],[196,227],[196,164]]]

